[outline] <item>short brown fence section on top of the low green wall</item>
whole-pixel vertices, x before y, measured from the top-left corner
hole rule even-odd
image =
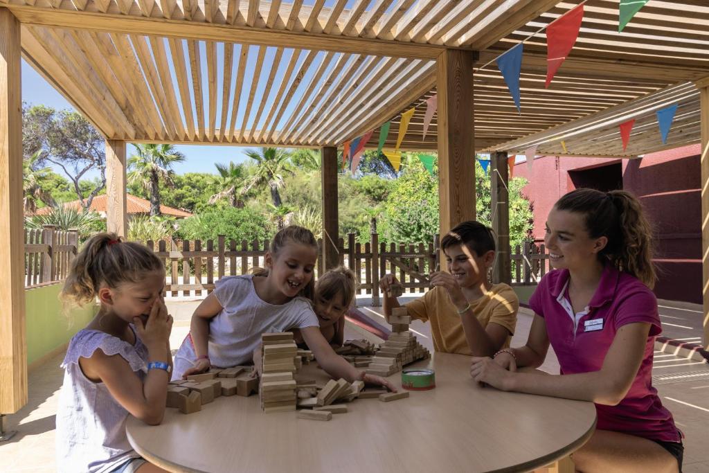
[[[77,230],[60,231],[53,225],[25,230],[25,286],[66,279],[78,244]]]

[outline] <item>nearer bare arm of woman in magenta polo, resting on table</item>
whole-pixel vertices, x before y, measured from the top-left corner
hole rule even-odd
[[[599,371],[548,376],[535,373],[512,373],[489,358],[474,358],[471,375],[504,391],[593,401],[615,406],[625,398],[644,355],[649,323],[629,323],[615,334],[613,343]],[[518,352],[515,350],[515,355]]]

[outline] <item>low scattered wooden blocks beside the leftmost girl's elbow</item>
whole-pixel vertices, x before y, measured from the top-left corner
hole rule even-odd
[[[191,374],[186,380],[171,381],[167,386],[167,407],[191,414],[219,396],[249,396],[258,386],[259,380],[251,377],[250,367],[210,369],[207,373]]]

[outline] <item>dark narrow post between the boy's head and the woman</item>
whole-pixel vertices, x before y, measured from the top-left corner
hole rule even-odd
[[[494,283],[512,284],[510,263],[510,205],[509,169],[506,152],[490,155],[490,193],[492,207],[492,229],[497,235],[497,257],[492,270]]]

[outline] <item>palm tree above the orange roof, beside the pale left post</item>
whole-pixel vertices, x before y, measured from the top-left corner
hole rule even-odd
[[[137,154],[128,160],[129,184],[140,184],[150,196],[150,216],[160,215],[160,180],[172,186],[172,165],[185,160],[173,145],[133,145]]]

